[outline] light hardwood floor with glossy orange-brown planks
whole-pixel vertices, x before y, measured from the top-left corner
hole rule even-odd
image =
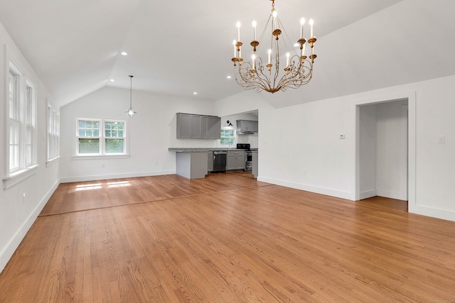
[[[455,302],[455,222],[242,172],[60,184],[0,302]]]

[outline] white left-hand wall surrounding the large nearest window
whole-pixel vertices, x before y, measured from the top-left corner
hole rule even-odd
[[[48,101],[52,104],[52,99],[48,90],[38,79],[33,68],[18,50],[16,45],[3,26],[0,24],[0,96],[2,106],[0,106],[0,171],[5,175],[7,121],[5,119],[6,102],[8,102],[7,75],[8,62],[21,69],[33,85],[36,87],[36,145],[37,145],[37,164],[36,172],[30,177],[15,184],[8,189],[4,187],[0,190],[0,271],[8,262],[11,255],[18,247],[27,233],[31,224],[36,220],[43,206],[48,201],[50,195],[58,186],[58,162],[46,167],[46,108]],[[24,197],[25,194],[25,197]]]

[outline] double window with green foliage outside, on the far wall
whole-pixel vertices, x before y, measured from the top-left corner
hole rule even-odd
[[[76,155],[125,155],[125,121],[77,119]]]

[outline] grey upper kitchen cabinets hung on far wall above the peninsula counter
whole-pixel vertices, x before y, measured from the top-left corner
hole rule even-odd
[[[221,118],[177,113],[178,139],[219,139]]]

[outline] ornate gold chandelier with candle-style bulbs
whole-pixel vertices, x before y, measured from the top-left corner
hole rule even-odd
[[[277,16],[277,11],[275,10],[275,1],[272,1],[272,12],[270,13],[267,24],[264,27],[264,31],[260,36],[259,40],[256,40],[256,22],[253,21],[253,40],[250,45],[253,48],[253,55],[249,62],[243,62],[242,58],[242,42],[240,42],[240,22],[237,22],[237,40],[234,40],[234,57],[232,57],[232,62],[234,62],[235,70],[235,81],[245,89],[255,89],[256,92],[261,92],[262,90],[271,92],[278,92],[282,90],[283,92],[287,88],[296,89],[301,87],[304,84],[310,82],[311,77],[313,77],[313,63],[316,59],[316,54],[314,53],[314,43],[316,43],[316,37],[313,35],[313,20],[309,21],[310,24],[310,38],[308,41],[304,38],[304,23],[305,19],[301,18],[301,28],[300,28],[300,38],[297,40],[297,43],[294,45],[300,48],[298,53],[296,50],[293,50],[295,55],[290,57],[290,53],[286,54],[286,66],[280,70],[279,68],[279,35],[284,31],[284,27]],[[272,21],[272,35],[270,36],[270,48],[268,50],[268,60],[267,65],[264,65],[262,58],[256,55],[258,46],[262,43],[262,38],[264,36],[267,27],[269,26],[270,21]],[[284,33],[287,35],[286,31]],[[289,37],[287,37],[289,40]],[[309,43],[311,47],[311,55],[306,57],[305,55],[305,45]],[[284,46],[286,41],[284,41]],[[272,60],[272,55],[274,60]]]

